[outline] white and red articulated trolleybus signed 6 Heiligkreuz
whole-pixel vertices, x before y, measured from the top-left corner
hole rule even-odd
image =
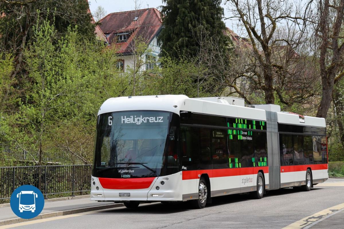
[[[328,179],[325,119],[235,97],[110,98],[97,119],[91,200],[193,201]]]

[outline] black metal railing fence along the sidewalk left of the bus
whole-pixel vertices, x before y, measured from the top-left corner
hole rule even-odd
[[[17,187],[31,184],[47,198],[52,194],[90,191],[91,165],[0,167],[0,200],[9,199]]]

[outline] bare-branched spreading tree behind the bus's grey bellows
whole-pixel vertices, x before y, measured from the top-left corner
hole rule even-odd
[[[238,20],[245,28],[251,46],[248,64],[233,78],[248,79],[254,91],[262,90],[266,104],[274,104],[275,95],[288,106],[313,96],[313,90],[302,86],[310,81],[302,67],[309,50],[305,46],[309,44],[309,6],[279,0],[227,0],[226,4],[233,14],[229,19]],[[283,24],[285,29],[278,27]],[[288,91],[293,94],[286,93],[286,86],[294,87]]]

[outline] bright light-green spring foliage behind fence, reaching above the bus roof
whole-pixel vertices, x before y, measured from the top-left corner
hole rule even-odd
[[[138,41],[135,68],[121,71],[116,67],[116,49],[97,41],[80,41],[78,27],[69,27],[61,37],[54,24],[37,20],[32,44],[23,55],[25,74],[20,75],[25,78],[21,84],[25,96],[19,96],[13,102],[16,105],[11,104],[14,109],[0,116],[1,143],[18,154],[28,152],[28,164],[45,164],[52,157],[64,158],[61,163],[67,164],[91,163],[97,112],[110,97],[197,95],[196,76],[202,70],[193,62],[162,58],[164,68],[152,63],[153,69],[142,71],[147,63],[142,57],[149,49]],[[0,62],[4,80],[11,70],[8,56]],[[203,91],[201,87],[202,96],[209,96]],[[2,165],[21,163],[7,155],[0,161]]]

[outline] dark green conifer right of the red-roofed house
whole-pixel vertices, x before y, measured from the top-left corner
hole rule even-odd
[[[159,35],[162,41],[161,55],[180,60],[197,55],[200,44],[196,38],[199,27],[204,27],[212,37],[218,37],[219,46],[226,47],[228,37],[223,34],[221,0],[163,0],[162,20],[164,29]],[[224,49],[226,51],[226,49]]]

